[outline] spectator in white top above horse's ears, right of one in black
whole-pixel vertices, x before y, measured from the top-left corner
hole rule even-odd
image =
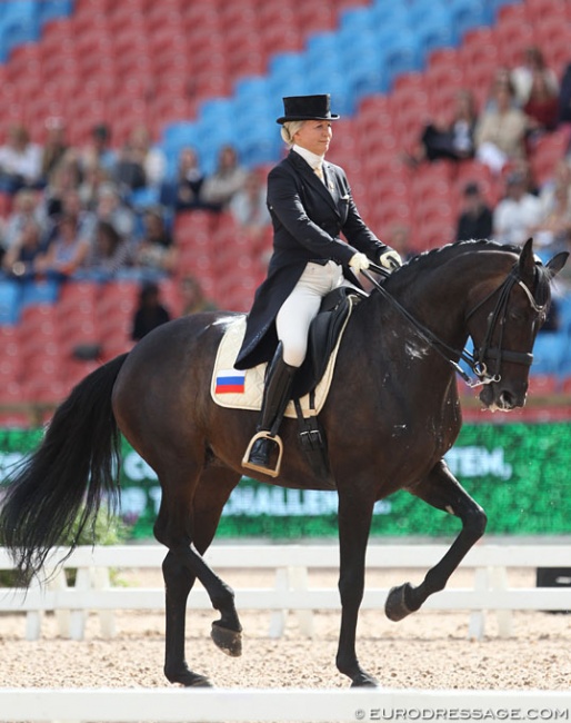
[[[541,201],[525,190],[525,178],[515,171],[505,179],[505,197],[493,210],[493,237],[500,244],[522,246],[541,221]]]

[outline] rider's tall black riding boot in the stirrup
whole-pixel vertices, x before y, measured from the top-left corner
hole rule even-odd
[[[292,367],[283,360],[282,344],[280,341],[266,375],[258,433],[250,443],[247,456],[242,460],[244,467],[263,472],[272,477],[278,476],[282,448],[278,429],[290,400],[291,384],[297,370],[297,367]],[[278,464],[273,467],[270,465],[270,455],[277,446],[279,448],[279,458]]]

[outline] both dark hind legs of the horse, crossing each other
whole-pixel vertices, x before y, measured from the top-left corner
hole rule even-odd
[[[231,655],[240,654],[241,625],[233,592],[201,557],[214,536],[222,508],[239,479],[240,475],[233,472],[212,468],[202,474],[193,494],[191,483],[163,491],[154,534],[159,542],[169,547],[162,573],[167,627],[164,674],[171,683],[210,685],[208,679],[188,667],[184,655],[187,600],[197,577],[207,588],[213,606],[221,612],[220,620],[212,627],[214,642]],[[178,489],[178,494],[173,494],[172,489]]]

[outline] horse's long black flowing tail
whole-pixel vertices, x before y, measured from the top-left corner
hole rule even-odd
[[[0,545],[28,584],[58,545],[70,547],[93,523],[103,498],[117,508],[120,433],[111,392],[123,354],[99,367],[56,410],[43,440],[8,479],[0,508]]]

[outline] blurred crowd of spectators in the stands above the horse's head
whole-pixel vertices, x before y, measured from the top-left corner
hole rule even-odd
[[[521,245],[531,236],[540,252],[571,250],[571,146],[547,181],[535,181],[530,162],[545,135],[570,127],[571,62],[559,81],[541,50],[525,48],[519,66],[497,69],[488,98],[479,112],[475,108],[472,91],[460,90],[452,118],[428,122],[418,146],[403,153],[412,168],[441,158],[475,159],[501,186],[492,202],[478,179],[465,182],[455,240]]]

